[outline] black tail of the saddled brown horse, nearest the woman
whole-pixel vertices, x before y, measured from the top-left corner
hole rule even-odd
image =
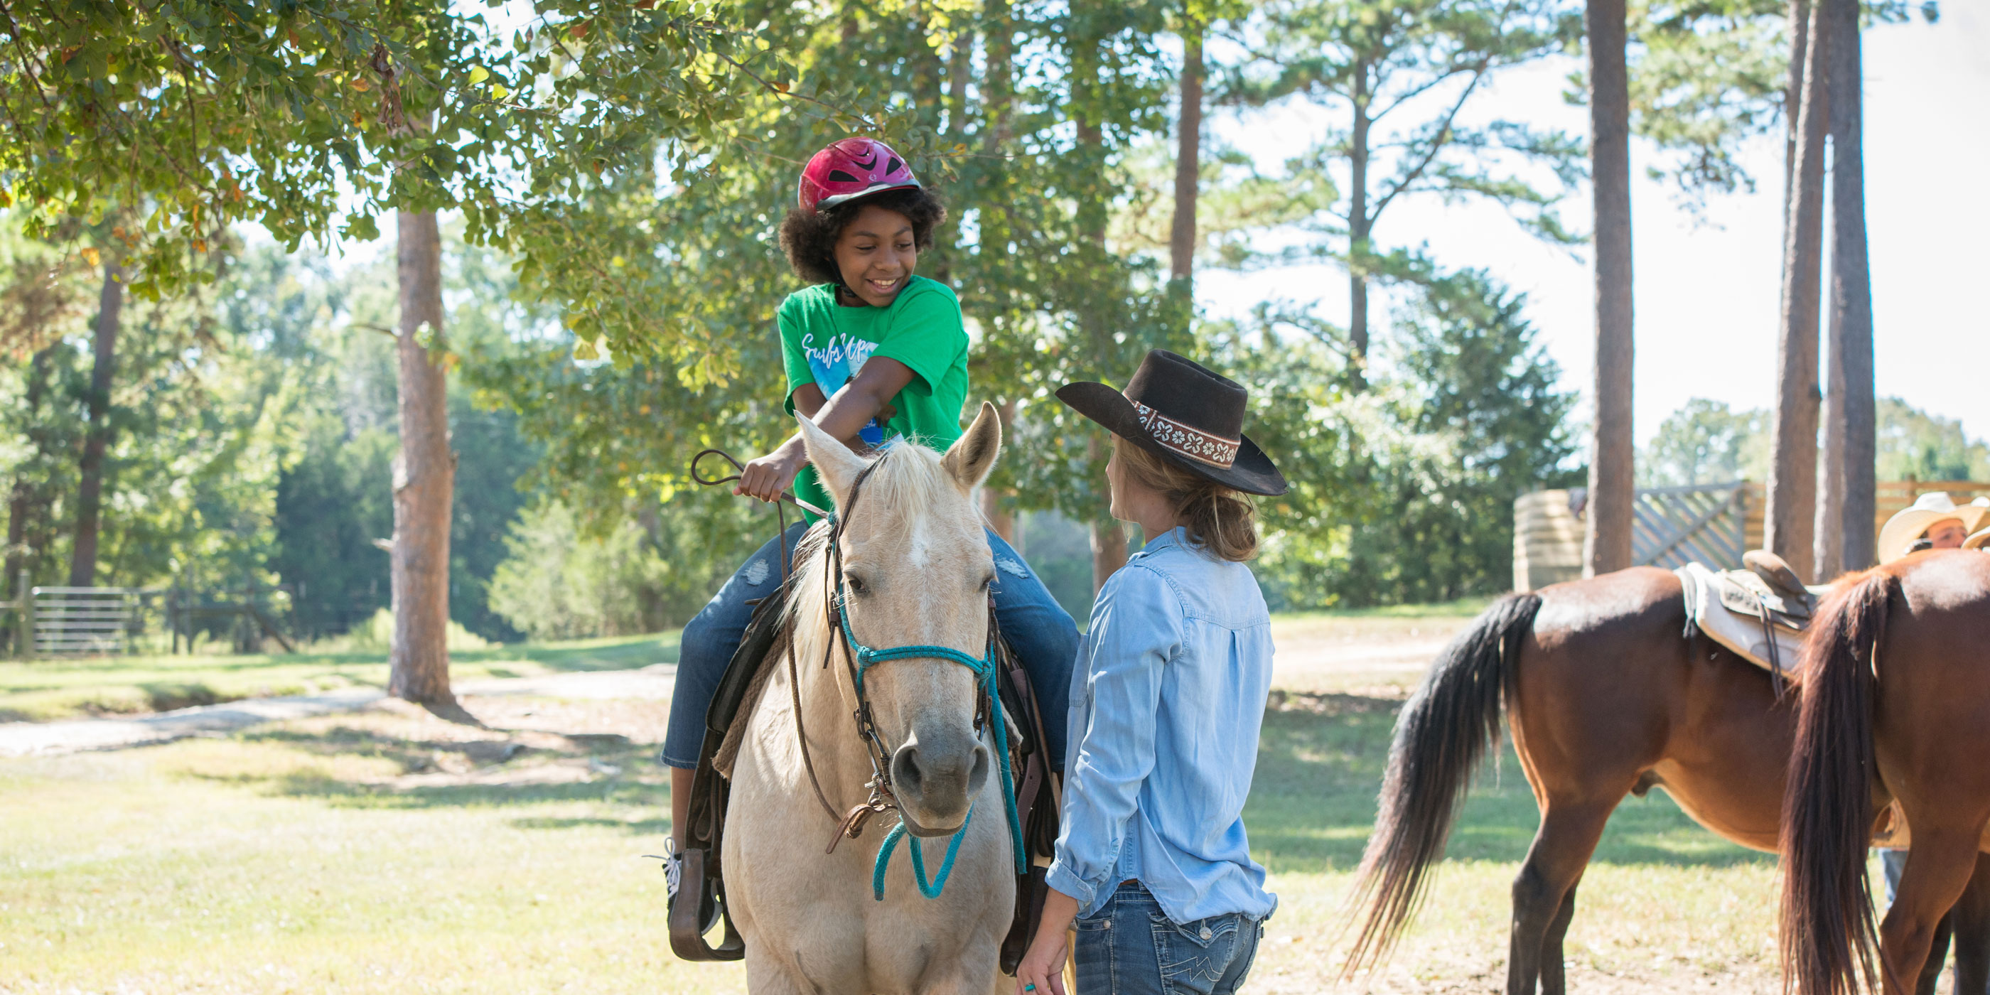
[[[1375,834],[1355,876],[1351,901],[1365,911],[1345,977],[1387,955],[1417,911],[1473,770],[1498,744],[1500,700],[1538,611],[1540,595],[1502,597],[1445,647],[1397,716]]]

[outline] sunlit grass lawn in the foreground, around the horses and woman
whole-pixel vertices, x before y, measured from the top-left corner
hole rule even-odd
[[[458,655],[458,673],[673,651],[488,653]],[[302,667],[297,679],[380,667],[277,665]],[[643,860],[667,828],[651,762],[667,702],[470,704],[494,728],[388,706],[0,760],[0,991],[740,991],[738,965],[671,957],[663,876]],[[1288,695],[1268,714],[1246,820],[1282,905],[1252,991],[1323,991],[1335,973],[1395,706]],[[1502,987],[1508,886],[1534,822],[1508,752],[1377,991]],[[1626,800],[1582,886],[1572,983],[1777,989],[1773,876],[1769,856],[1715,840],[1664,792]]]

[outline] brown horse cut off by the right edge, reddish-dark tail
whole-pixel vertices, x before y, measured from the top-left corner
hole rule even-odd
[[[1783,971],[1803,995],[1926,975],[1942,911],[1980,907],[1990,852],[1990,555],[1936,551],[1849,577],[1805,647],[1783,806]],[[1890,802],[1912,852],[1879,925],[1865,840]],[[1958,925],[1960,927],[1960,925]],[[1982,977],[1956,991],[1984,991]],[[1966,987],[1972,985],[1972,987]]]

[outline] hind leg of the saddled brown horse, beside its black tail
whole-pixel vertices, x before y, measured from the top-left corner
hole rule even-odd
[[[1574,915],[1574,888],[1590,866],[1596,840],[1610,822],[1610,812],[1624,796],[1608,802],[1548,802],[1540,814],[1534,846],[1512,880],[1512,943],[1506,951],[1506,995],[1534,995],[1534,985],[1548,981],[1548,991],[1562,989],[1562,935]],[[1550,943],[1552,937],[1552,943]],[[1552,949],[1550,949],[1552,947]],[[1552,957],[1552,969],[1546,965]]]

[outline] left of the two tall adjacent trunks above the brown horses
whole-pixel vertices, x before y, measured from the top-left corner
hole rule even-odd
[[[1823,255],[1827,38],[1811,8],[1797,111],[1795,189],[1783,247],[1783,320],[1777,344],[1775,438],[1769,450],[1765,541],[1799,577],[1815,579],[1817,525],[1817,297]]]

